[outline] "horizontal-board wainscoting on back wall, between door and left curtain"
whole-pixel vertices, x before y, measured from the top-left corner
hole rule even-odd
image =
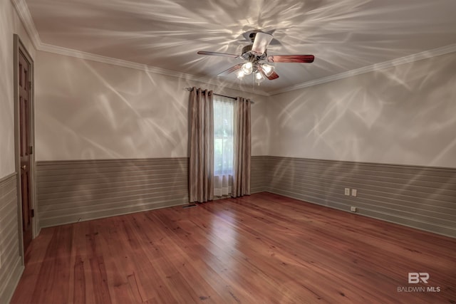
[[[37,162],[40,226],[188,204],[188,158]]]

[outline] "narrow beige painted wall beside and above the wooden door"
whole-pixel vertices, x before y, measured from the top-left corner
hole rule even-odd
[[[32,58],[35,55],[11,1],[0,1],[0,178],[14,167],[14,38],[19,34]]]

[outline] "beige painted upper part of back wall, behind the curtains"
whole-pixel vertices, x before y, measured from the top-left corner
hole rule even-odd
[[[187,156],[186,87],[252,98],[253,154],[267,152],[264,96],[38,51],[36,160]]]

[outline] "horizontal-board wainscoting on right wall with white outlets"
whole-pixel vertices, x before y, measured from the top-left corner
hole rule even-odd
[[[456,237],[456,169],[266,157],[266,191]],[[344,195],[356,189],[357,196]]]

